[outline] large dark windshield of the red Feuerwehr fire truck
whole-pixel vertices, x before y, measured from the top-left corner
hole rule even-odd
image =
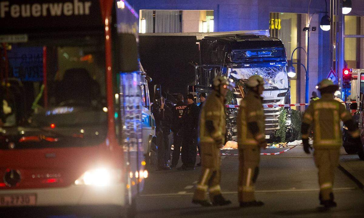
[[[3,89],[12,113],[3,126],[106,125],[102,37],[29,40],[6,50]]]

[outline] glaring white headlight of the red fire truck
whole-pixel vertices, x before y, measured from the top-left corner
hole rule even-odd
[[[120,169],[97,168],[87,170],[75,181],[76,185],[108,186],[121,181]]]

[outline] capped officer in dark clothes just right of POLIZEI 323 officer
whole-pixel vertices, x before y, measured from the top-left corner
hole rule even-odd
[[[181,159],[182,166],[178,170],[193,170],[195,169],[196,155],[197,155],[197,128],[198,117],[200,109],[193,101],[193,94],[187,95],[188,106],[182,116],[182,128],[180,133],[182,135],[182,150]]]

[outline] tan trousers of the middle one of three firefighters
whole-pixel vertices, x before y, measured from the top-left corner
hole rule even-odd
[[[239,149],[239,178],[238,199],[239,202],[255,201],[254,184],[259,173],[260,149]]]

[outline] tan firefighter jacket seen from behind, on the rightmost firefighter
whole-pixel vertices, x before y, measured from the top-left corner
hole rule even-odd
[[[315,149],[338,149],[343,143],[340,120],[344,123],[352,117],[345,106],[333,99],[333,94],[323,94],[321,99],[310,103],[303,116],[302,123],[313,130]],[[302,139],[308,139],[308,132],[302,132]],[[359,137],[359,130],[352,133]]]

